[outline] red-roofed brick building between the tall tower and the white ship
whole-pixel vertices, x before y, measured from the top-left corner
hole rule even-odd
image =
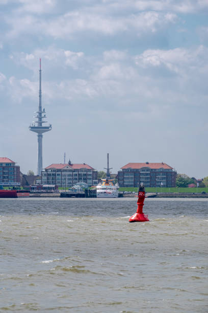
[[[88,186],[97,185],[97,170],[88,164],[51,164],[41,173],[42,185],[72,187],[79,182]]]

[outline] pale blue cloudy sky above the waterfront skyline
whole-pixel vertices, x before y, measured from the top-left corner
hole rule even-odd
[[[0,156],[208,176],[208,0],[0,0]]]

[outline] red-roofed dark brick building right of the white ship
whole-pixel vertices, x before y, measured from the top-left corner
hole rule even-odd
[[[128,163],[118,171],[119,187],[175,187],[176,171],[166,163]]]

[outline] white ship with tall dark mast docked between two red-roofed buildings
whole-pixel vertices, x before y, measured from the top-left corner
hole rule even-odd
[[[102,179],[102,183],[96,186],[97,198],[118,198],[118,184],[113,184],[113,179],[110,177],[109,168],[109,153],[108,153],[108,168],[106,173],[106,178]]]

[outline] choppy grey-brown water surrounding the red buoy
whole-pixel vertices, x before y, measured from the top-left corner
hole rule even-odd
[[[0,199],[0,312],[207,312],[207,199]]]

